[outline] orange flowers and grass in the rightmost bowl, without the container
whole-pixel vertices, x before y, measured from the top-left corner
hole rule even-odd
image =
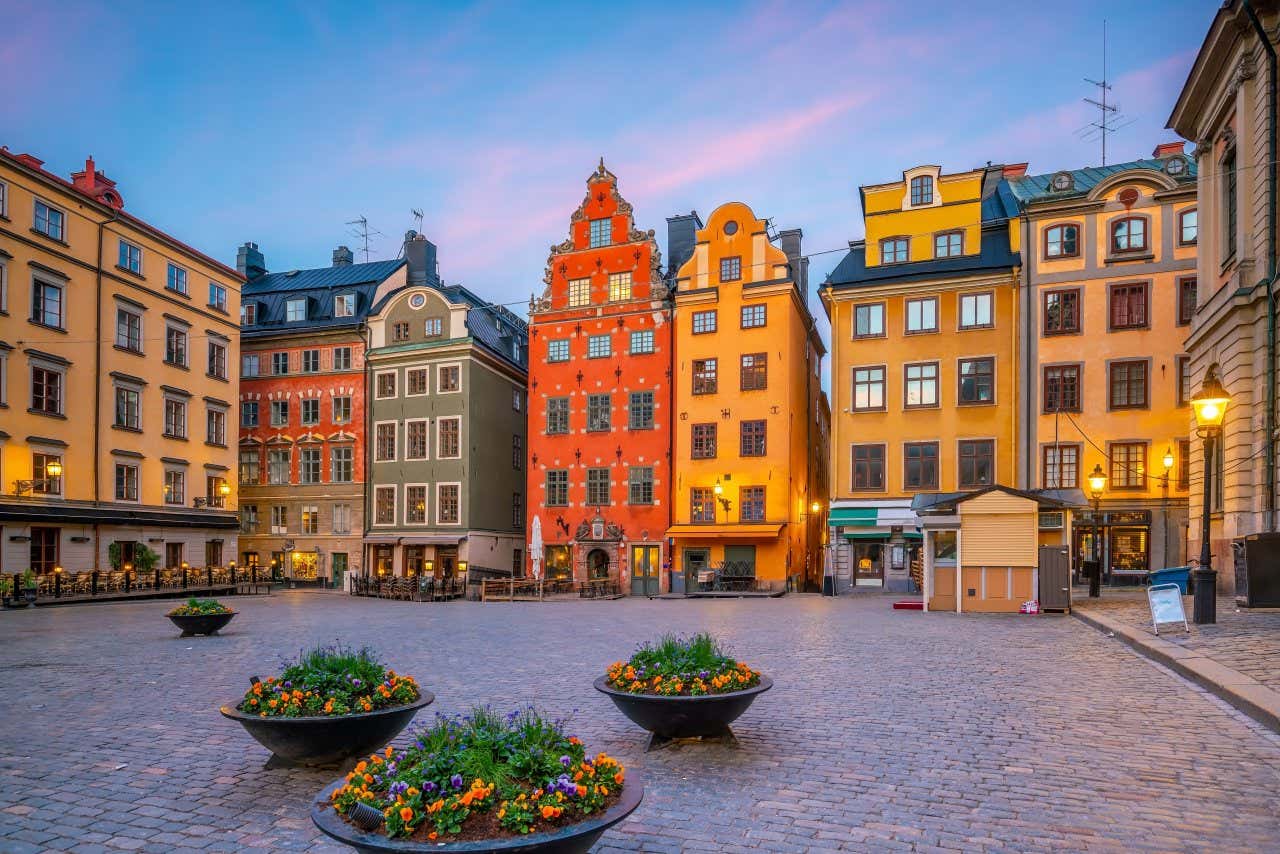
[[[707,697],[755,688],[760,673],[724,654],[714,638],[663,635],[628,661],[613,662],[605,685],[628,694]]]

